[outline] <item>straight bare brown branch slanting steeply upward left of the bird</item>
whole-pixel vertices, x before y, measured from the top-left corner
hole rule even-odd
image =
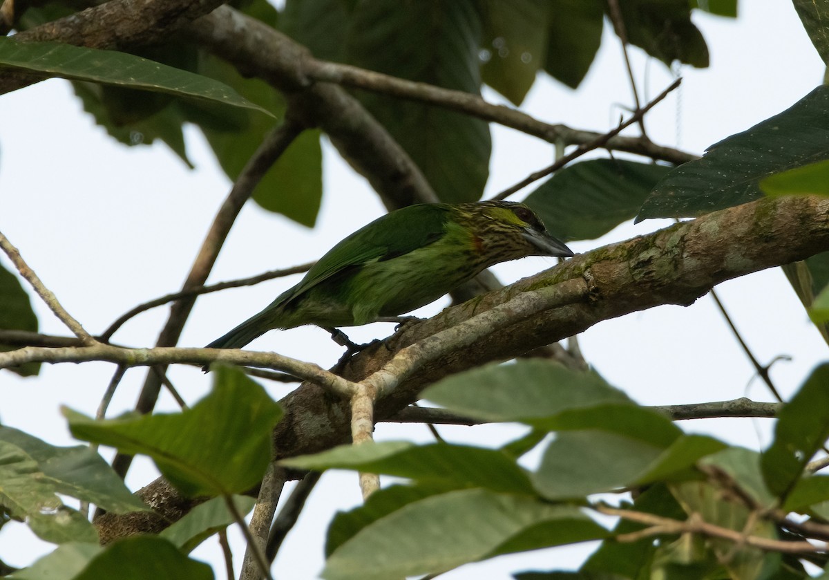
[[[225,242],[227,234],[230,232],[230,227],[233,226],[236,216],[248,198],[253,194],[254,189],[264,177],[264,174],[274,164],[285,149],[293,143],[293,141],[304,130],[304,125],[294,119],[290,111],[286,113],[282,124],[279,124],[272,130],[259,145],[259,149],[253,157],[250,158],[245,168],[230,189],[230,193],[222,203],[219,212],[213,220],[210,231],[207,232],[205,240],[201,244],[196,261],[191,266],[190,273],[187,275],[182,290],[189,290],[204,285],[207,276],[213,264],[216,262],[216,257],[219,256],[221,246]],[[156,346],[170,347],[178,342],[179,336],[182,334],[184,323],[190,315],[193,305],[196,303],[196,296],[182,298],[174,302],[170,308],[170,315],[167,317],[167,323],[158,335]],[[138,396],[138,403],[135,410],[141,414],[152,412],[155,408],[156,401],[158,401],[158,392],[160,391],[162,382],[158,379],[156,373],[148,373],[147,378],[144,379],[141,394]],[[124,476],[132,463],[132,456],[120,454],[115,456],[113,461],[113,469],[116,473]]]

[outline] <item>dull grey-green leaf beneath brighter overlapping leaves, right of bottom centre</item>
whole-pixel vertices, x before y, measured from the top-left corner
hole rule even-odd
[[[533,483],[547,500],[570,500],[633,484],[662,450],[606,431],[558,433],[541,458]]]

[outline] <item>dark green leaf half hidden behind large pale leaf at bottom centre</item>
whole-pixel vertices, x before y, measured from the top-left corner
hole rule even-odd
[[[368,524],[385,518],[404,505],[450,490],[452,488],[444,485],[392,485],[376,490],[368,496],[365,504],[334,515],[325,542],[326,558]]]

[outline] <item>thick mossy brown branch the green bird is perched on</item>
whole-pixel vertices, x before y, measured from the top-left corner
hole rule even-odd
[[[575,256],[561,266],[406,326],[352,358],[343,375],[359,381],[381,368],[401,348],[492,309],[522,291],[565,280],[585,280],[589,286],[587,300],[516,322],[463,348],[463,352],[449,353],[425,365],[400,383],[390,397],[378,402],[376,420],[383,421],[417,399],[424,387],[448,374],[515,357],[605,319],[658,305],[690,305],[724,280],[827,250],[826,198],[763,199],[731,207]],[[303,384],[280,403],[285,416],[274,430],[279,457],[314,453],[348,441],[348,403],[321,387]],[[166,482],[157,480],[139,495],[152,496],[157,488],[168,490]],[[131,521],[130,516],[125,518]],[[108,519],[107,526],[107,534],[120,534],[118,516]]]

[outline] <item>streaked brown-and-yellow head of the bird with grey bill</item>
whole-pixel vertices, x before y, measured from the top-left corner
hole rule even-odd
[[[523,203],[488,201],[455,207],[473,230],[482,251],[504,255],[498,261],[521,256],[573,256],[563,241],[550,236],[541,217]]]

